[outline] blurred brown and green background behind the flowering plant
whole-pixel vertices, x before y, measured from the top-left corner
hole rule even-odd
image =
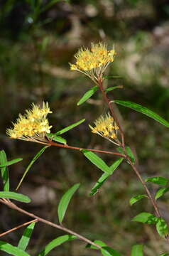
[[[1,0],[0,1],[0,137],[1,149],[9,159],[23,157],[10,167],[14,190],[26,166],[40,150],[40,145],[11,140],[6,127],[30,107],[31,102],[48,101],[53,114],[53,132],[85,118],[80,127],[65,135],[73,146],[112,149],[102,137],[91,134],[88,124],[107,112],[99,94],[77,107],[77,101],[92,83],[80,73],[72,72],[68,63],[81,46],[106,41],[114,44],[116,59],[108,70],[105,86],[123,85],[109,93],[116,99],[130,100],[149,107],[169,119],[169,4],[167,0]],[[117,109],[126,132],[126,141],[135,151],[143,178],[168,175],[168,129],[141,114]],[[102,155],[111,164],[114,159]],[[90,198],[89,191],[101,176],[78,151],[50,147],[33,165],[19,191],[32,198],[23,207],[53,222],[57,220],[60,196],[72,184],[81,187],[71,201],[65,225],[90,239],[107,242],[123,255],[130,255],[131,245],[145,244],[145,254],[159,255],[168,250],[153,227],[132,223],[141,210],[152,210],[150,203],[129,206],[129,199],[143,193],[141,184],[126,164],[121,164],[102,189]],[[151,191],[157,187],[151,186]],[[168,195],[159,201],[163,217],[169,221]],[[1,232],[30,220],[1,206]],[[23,230],[4,240],[17,245]],[[36,224],[29,253],[37,255],[41,247],[63,233]],[[51,256],[97,255],[84,248],[83,242],[58,247]]]

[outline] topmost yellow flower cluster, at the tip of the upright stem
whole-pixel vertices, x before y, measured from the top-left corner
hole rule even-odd
[[[92,43],[91,49],[80,48],[75,54],[76,63],[70,63],[70,70],[77,70],[84,73],[98,84],[104,70],[109,63],[114,61],[116,55],[114,48],[107,50],[105,43]]]

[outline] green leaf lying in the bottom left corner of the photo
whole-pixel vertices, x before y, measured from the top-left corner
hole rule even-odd
[[[18,247],[10,245],[8,242],[4,241],[0,241],[0,250],[2,250],[3,252],[7,252],[13,256],[31,256],[27,252],[24,252]]]

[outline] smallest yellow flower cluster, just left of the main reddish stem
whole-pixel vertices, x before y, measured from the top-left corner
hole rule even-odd
[[[116,139],[119,127],[114,122],[114,118],[110,114],[99,117],[95,122],[95,127],[89,125],[93,133],[99,134],[106,139]]]

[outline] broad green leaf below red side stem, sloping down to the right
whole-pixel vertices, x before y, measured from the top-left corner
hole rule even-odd
[[[86,149],[83,149],[82,153],[84,154],[84,156],[87,157],[87,159],[89,159],[89,161],[92,162],[92,164],[97,166],[99,169],[101,169],[105,173],[111,174],[109,166],[107,166],[107,164],[104,163],[104,161],[99,156],[97,156],[97,154],[94,154],[93,152],[88,151]]]

